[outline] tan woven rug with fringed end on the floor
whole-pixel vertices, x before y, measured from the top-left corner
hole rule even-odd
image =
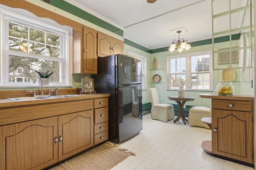
[[[130,155],[135,156],[128,149],[105,142],[48,170],[110,170]]]

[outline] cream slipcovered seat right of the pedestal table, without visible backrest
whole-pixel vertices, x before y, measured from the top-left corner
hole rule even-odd
[[[201,121],[203,117],[212,117],[211,108],[202,106],[193,106],[189,109],[188,123],[190,126],[199,126],[210,129],[210,127]]]

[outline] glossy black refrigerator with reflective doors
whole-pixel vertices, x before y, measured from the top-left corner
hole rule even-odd
[[[127,55],[98,57],[94,90],[110,94],[108,141],[119,143],[142,130],[142,61]]]

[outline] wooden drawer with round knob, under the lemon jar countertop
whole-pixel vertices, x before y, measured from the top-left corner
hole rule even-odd
[[[252,103],[237,100],[212,100],[213,109],[252,111]]]

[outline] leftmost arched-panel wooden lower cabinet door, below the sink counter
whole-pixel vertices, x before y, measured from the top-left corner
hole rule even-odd
[[[0,127],[0,169],[41,169],[58,162],[57,125],[57,117],[50,117]]]

